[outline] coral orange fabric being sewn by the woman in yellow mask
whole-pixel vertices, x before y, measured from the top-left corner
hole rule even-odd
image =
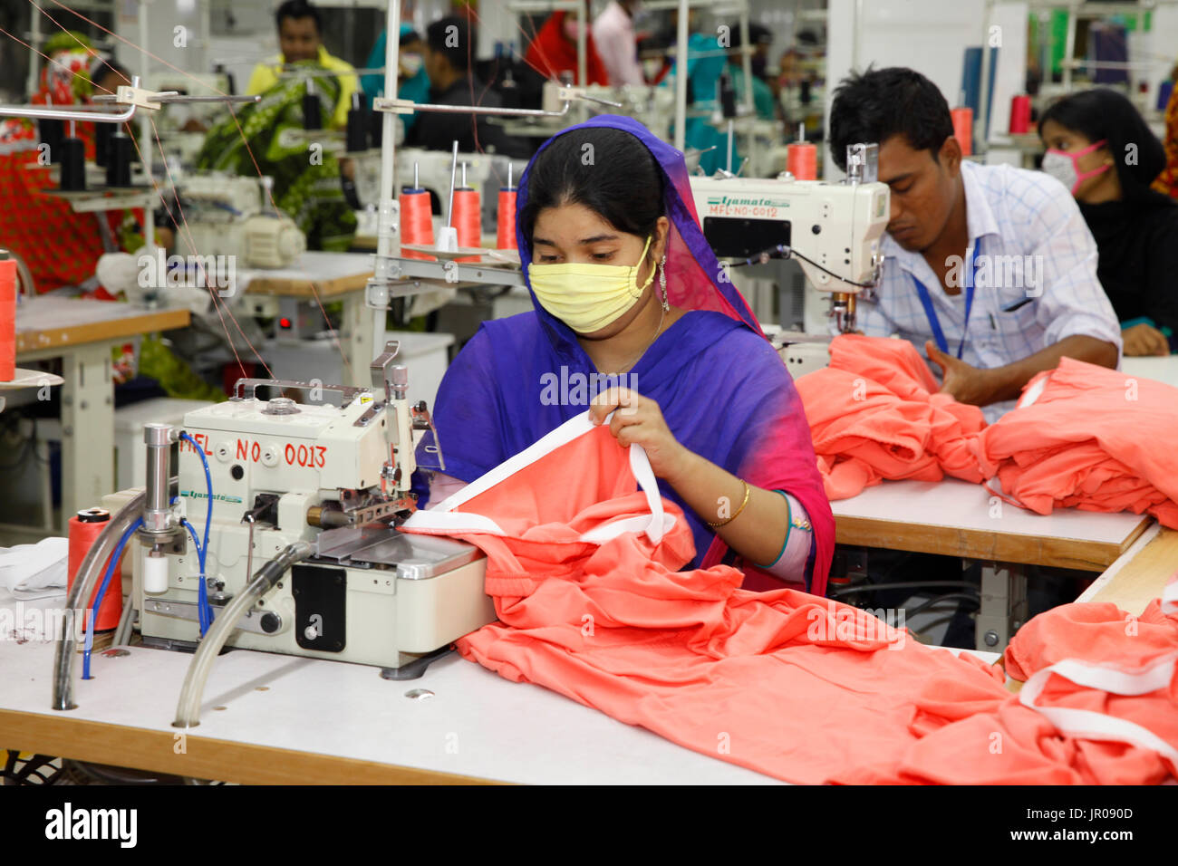
[[[636,490],[634,449],[607,429],[560,444],[578,422],[545,437],[558,444],[534,462],[403,525],[488,555],[499,621],[458,641],[464,657],[795,782],[899,760],[919,736],[912,696],[929,681],[964,706],[1007,694],[998,668],[925,647],[856,608],[792,589],[746,591],[727,566],[676,571],[694,553],[677,507],[661,501],[656,520]],[[647,483],[656,489],[653,476]]]

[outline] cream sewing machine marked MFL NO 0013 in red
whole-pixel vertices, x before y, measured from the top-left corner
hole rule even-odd
[[[205,573],[213,610],[279,550],[315,547],[240,619],[229,646],[376,665],[388,679],[408,679],[435,650],[496,619],[477,548],[396,528],[415,507],[413,430],[430,428],[424,402],[408,401],[397,348],[390,342],[372,363],[371,390],[243,379],[227,403],[185,416],[212,478]],[[263,388],[284,396],[262,399]],[[296,390],[310,399],[285,396]],[[198,555],[159,494],[178,435],[165,425],[145,431],[148,497],[134,582],[144,642],[167,648],[198,639]],[[199,534],[204,463],[180,445],[180,509]]]

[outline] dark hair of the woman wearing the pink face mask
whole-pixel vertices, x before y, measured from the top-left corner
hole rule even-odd
[[[1105,147],[1112,153],[1117,165],[1117,177],[1125,198],[1149,191],[1153,178],[1166,167],[1166,152],[1162,143],[1150,131],[1133,104],[1117,91],[1097,87],[1072,93],[1053,103],[1039,118],[1040,138],[1043,125],[1048,120],[1080,133],[1093,144],[1101,139],[1105,141]],[[1131,145],[1136,150],[1133,165],[1126,159]]]

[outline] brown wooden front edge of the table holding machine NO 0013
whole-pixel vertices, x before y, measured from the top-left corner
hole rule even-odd
[[[184,749],[178,753],[178,749]],[[243,785],[501,785],[491,779],[0,708],[0,748]]]

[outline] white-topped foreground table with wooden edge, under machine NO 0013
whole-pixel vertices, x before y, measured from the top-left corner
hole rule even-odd
[[[85,682],[79,656],[78,708],[59,713],[49,709],[53,650],[0,641],[0,748],[245,784],[777,781],[456,654],[395,682],[373,667],[233,650],[212,668],[199,727],[181,732],[172,720],[192,655],[95,653]],[[423,688],[434,696],[405,696]]]

